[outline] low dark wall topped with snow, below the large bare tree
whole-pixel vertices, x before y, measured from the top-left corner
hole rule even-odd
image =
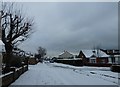
[[[15,71],[12,71],[8,74],[5,74],[2,78],[2,87],[7,87],[11,83],[13,83],[16,79],[19,78],[24,72],[28,70],[28,66],[25,65],[23,67],[17,68]]]

